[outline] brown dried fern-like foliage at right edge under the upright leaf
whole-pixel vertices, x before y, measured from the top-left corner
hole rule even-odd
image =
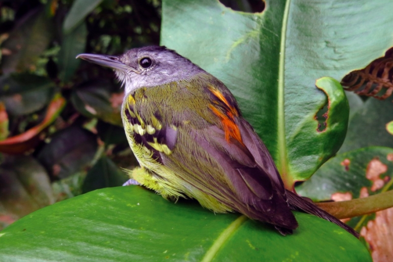
[[[386,99],[393,93],[393,47],[361,70],[350,72],[341,80],[346,90],[360,95]]]

